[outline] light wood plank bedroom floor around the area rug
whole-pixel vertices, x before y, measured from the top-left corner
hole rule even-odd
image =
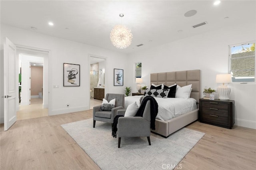
[[[1,124],[0,169],[100,169],[60,127],[89,118],[92,110],[17,121],[8,131],[4,131]],[[180,162],[182,169],[251,170],[256,167],[255,129],[237,126],[226,129],[200,122],[188,128],[206,134]]]

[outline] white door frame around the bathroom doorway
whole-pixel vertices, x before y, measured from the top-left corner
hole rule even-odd
[[[99,56],[99,55],[93,55],[93,54],[89,54],[88,55],[88,79],[90,80],[90,61],[91,61],[91,57],[93,58],[100,58],[100,59],[104,59],[105,60],[105,75],[104,75],[104,79],[105,79],[105,82],[104,82],[104,85],[105,85],[105,89],[104,89],[104,96],[106,96],[107,92],[108,92],[108,88],[107,88],[107,85],[108,85],[108,68],[107,68],[107,63],[108,63],[108,58],[107,57],[102,57],[102,56]],[[88,81],[88,110],[90,109],[90,81]]]

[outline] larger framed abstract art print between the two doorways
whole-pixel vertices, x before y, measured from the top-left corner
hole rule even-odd
[[[64,63],[63,86],[80,86],[80,65]]]

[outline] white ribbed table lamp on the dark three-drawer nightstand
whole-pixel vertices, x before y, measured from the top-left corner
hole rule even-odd
[[[217,88],[219,99],[220,100],[229,100],[229,94],[230,94],[230,87],[225,85],[225,83],[232,83],[232,77],[231,74],[217,74],[216,75],[216,83],[222,83]]]

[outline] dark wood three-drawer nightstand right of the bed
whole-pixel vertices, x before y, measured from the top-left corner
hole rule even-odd
[[[199,119],[202,123],[232,128],[235,123],[235,101],[199,99]]]

